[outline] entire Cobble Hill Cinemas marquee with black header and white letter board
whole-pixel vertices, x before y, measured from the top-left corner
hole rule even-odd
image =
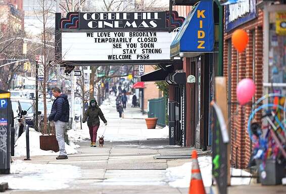
[[[71,12],[56,14],[56,60],[64,65],[156,64],[170,60],[177,12]]]

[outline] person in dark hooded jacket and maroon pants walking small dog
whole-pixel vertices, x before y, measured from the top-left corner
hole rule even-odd
[[[100,126],[100,118],[103,120],[105,125],[107,125],[107,120],[105,119],[103,112],[101,111],[98,103],[95,99],[90,100],[89,106],[83,115],[82,122],[87,120],[87,126],[89,128],[90,135],[90,147],[97,147],[97,133]]]

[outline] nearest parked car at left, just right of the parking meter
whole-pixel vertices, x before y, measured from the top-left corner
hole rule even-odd
[[[22,110],[21,104],[18,99],[11,99],[13,117],[12,126],[15,128],[15,142],[24,132],[25,126],[25,111]]]

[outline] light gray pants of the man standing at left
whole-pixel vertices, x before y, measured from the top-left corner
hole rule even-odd
[[[56,138],[59,144],[60,148],[60,155],[67,155],[66,149],[65,149],[65,138],[64,138],[64,133],[65,133],[65,127],[67,123],[62,122],[60,120],[55,122],[55,127],[56,127]]]

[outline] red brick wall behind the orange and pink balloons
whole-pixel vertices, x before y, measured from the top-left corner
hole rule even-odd
[[[223,57],[223,76],[231,79],[231,164],[237,168],[246,168],[251,156],[252,145],[247,132],[247,122],[251,113],[252,103],[245,106],[237,104],[236,86],[237,82],[244,78],[251,78],[256,84],[256,94],[254,101],[262,96],[263,83],[263,12],[258,10],[258,18],[242,26],[249,35],[249,43],[242,53],[237,53],[231,45],[231,61],[228,61],[228,42],[234,30],[224,33],[224,57]],[[255,38],[255,39],[253,39]],[[230,67],[228,67],[230,63]],[[254,66],[253,67],[253,63]],[[230,68],[230,70],[228,70]],[[227,82],[228,83],[228,82]],[[260,113],[256,115],[256,119]]]

